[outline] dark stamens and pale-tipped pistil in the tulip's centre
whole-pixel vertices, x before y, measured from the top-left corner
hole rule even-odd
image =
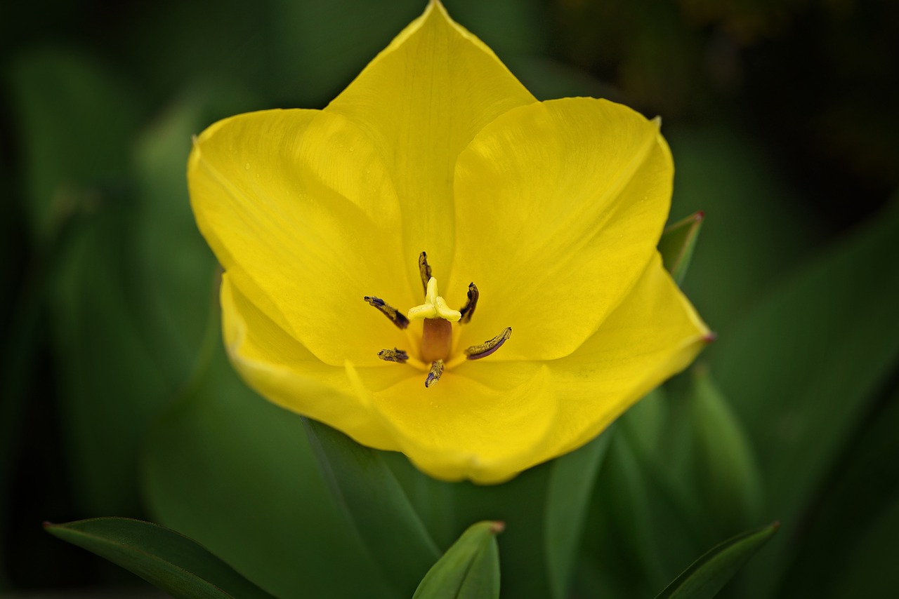
[[[469,284],[467,303],[460,310],[453,310],[446,300],[438,295],[437,279],[432,277],[431,266],[428,264],[428,256],[425,252],[422,252],[418,258],[418,269],[422,277],[424,304],[410,309],[407,316],[378,297],[366,295],[364,299],[387,316],[387,319],[399,329],[408,327],[410,321],[423,321],[419,352],[421,360],[409,357],[408,353],[400,348],[382,349],[378,352],[378,357],[387,362],[408,363],[422,370],[428,369],[430,364],[430,371],[424,381],[424,386],[431,387],[440,381],[445,368],[455,366],[465,359],[476,360],[494,353],[507,339],[512,337],[512,327],[506,327],[493,339],[467,348],[463,352],[465,357],[461,355],[452,357],[452,323],[466,324],[471,320],[479,296],[477,286],[474,283]]]

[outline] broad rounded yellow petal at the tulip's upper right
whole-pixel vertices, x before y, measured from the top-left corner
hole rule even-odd
[[[460,347],[511,326],[491,360],[578,348],[654,255],[672,192],[658,123],[625,106],[566,98],[506,112],[459,156],[456,258],[444,295],[477,312]],[[430,255],[430,254],[429,254]]]

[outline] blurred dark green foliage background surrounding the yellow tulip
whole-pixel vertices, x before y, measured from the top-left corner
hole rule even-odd
[[[296,417],[222,357],[184,173],[191,135],[324,107],[424,4],[0,4],[0,595],[144,592],[40,527],[100,515],[171,526],[280,596],[384,588]],[[622,418],[573,596],[652,596],[775,519],[727,593],[899,588],[899,4],[445,5],[540,99],[661,115],[672,220],[706,214],[684,289],[718,341]],[[502,517],[503,589],[547,595],[527,567],[546,467],[448,493],[394,465],[441,546]]]

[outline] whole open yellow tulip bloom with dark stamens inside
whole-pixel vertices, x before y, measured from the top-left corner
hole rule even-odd
[[[705,345],[655,249],[672,176],[657,120],[537,101],[436,0],[325,110],[221,120],[188,165],[245,381],[481,483],[590,441]]]

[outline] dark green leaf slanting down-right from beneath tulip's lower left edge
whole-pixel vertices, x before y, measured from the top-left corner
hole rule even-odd
[[[407,596],[440,551],[393,472],[373,449],[334,428],[308,418],[303,424],[338,507],[387,577]]]

